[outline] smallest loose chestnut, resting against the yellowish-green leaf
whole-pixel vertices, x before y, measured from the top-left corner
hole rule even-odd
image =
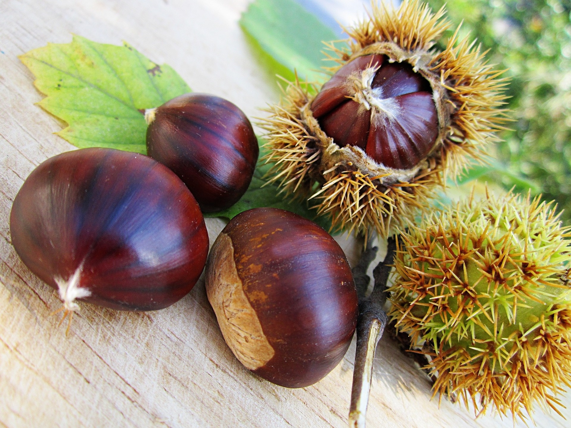
[[[203,212],[238,202],[259,154],[242,110],[218,96],[193,93],[147,110],[145,118],[148,155],[180,177]]]

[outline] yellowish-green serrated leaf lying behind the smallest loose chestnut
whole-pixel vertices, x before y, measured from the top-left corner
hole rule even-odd
[[[103,45],[74,35],[71,43],[50,43],[20,59],[47,95],[39,105],[69,124],[58,135],[80,148],[146,154],[144,110],[190,92],[170,66],[127,43]]]

